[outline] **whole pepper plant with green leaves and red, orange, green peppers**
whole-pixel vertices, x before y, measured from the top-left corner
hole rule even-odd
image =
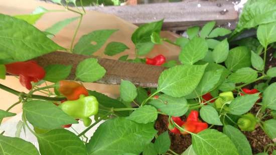
[[[191,135],[192,145],[182,154],[252,154],[242,131],[251,132],[260,126],[271,139],[276,138],[276,67],[265,65],[269,61],[267,51],[276,47],[274,0],[248,1],[233,32],[215,28],[216,23],[209,22],[202,28],[189,28],[187,38],[171,41],[160,36],[163,20],[137,28],[131,36],[136,58],[123,55],[119,60],[167,69],[160,74],[156,89],[136,88],[130,81],[122,80],[118,99],[87,90],[81,84],[96,82],[105,74],[96,58],[78,64],[74,81],[66,80],[71,65],[49,64],[43,68],[32,60],[56,50],[92,55],[117,31],[93,31],[74,45],[78,26],[70,49],[66,49],[51,38],[75,20],[80,25],[85,11],[68,7],[64,11],[75,12],[79,17],[60,21],[45,31],[32,25],[51,12],[45,8],[40,7],[31,15],[0,14],[0,78],[5,79],[7,73],[19,76],[20,84],[29,90],[18,92],[0,84],[1,89],[19,98],[7,110],[0,110],[0,117],[15,116],[9,111],[22,104],[23,126],[39,143],[37,149],[21,138],[5,136],[3,131],[1,154],[178,154],[170,149],[169,132]],[[251,28],[257,30],[256,37],[235,40]],[[166,62],[163,55],[144,58],[155,44],[163,42],[180,47],[179,61]],[[104,54],[113,56],[125,49],[128,47],[123,43],[110,42]],[[46,81],[52,84],[42,87]],[[257,112],[251,113],[252,108],[258,108]],[[168,115],[169,122],[168,131],[160,135],[154,128],[158,115]],[[186,119],[182,119],[184,115]],[[105,121],[93,135],[86,134],[102,120]],[[81,133],[66,129],[81,122],[87,127]],[[274,146],[275,143],[264,146],[262,154]]]

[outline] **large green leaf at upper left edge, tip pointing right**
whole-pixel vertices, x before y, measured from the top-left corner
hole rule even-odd
[[[26,61],[64,49],[23,20],[0,14],[0,25],[0,64]]]

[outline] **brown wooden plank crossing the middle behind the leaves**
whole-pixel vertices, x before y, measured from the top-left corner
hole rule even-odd
[[[52,52],[36,58],[35,60],[43,67],[49,64],[73,65],[68,80],[75,79],[77,64],[91,56],[78,55],[68,52]],[[133,84],[141,87],[156,88],[158,78],[165,67],[147,65],[142,63],[130,63],[106,58],[98,58],[98,62],[106,70],[103,78],[96,83],[102,84],[120,84],[122,80],[131,81]]]

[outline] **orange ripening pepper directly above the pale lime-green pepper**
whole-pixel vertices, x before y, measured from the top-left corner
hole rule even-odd
[[[80,95],[88,96],[87,89],[83,85],[74,81],[60,81],[57,90],[69,101],[79,99]]]

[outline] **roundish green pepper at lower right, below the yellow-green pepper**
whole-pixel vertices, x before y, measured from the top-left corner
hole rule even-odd
[[[255,116],[251,113],[242,115],[237,122],[241,131],[253,131],[257,124]]]

